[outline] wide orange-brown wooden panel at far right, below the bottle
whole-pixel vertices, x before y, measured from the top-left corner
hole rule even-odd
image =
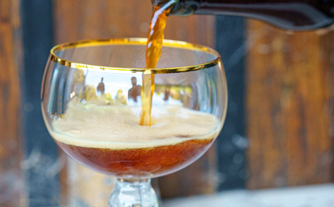
[[[248,188],[333,181],[333,34],[248,21]]]

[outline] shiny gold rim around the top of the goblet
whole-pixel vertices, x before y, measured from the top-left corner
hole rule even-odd
[[[161,74],[161,73],[182,73],[189,71],[197,71],[203,70],[206,68],[211,68],[212,66],[218,65],[220,63],[220,55],[219,53],[204,45],[200,44],[192,44],[189,42],[176,41],[164,39],[162,45],[172,48],[180,48],[180,49],[188,49],[194,51],[202,51],[204,53],[215,55],[217,58],[209,61],[207,63],[193,65],[193,66],[185,66],[185,67],[175,67],[175,68],[118,68],[118,67],[105,67],[105,66],[96,66],[96,65],[88,65],[82,63],[76,63],[73,61],[65,60],[55,55],[58,51],[70,49],[70,48],[79,48],[79,47],[91,47],[91,46],[102,46],[102,45],[134,45],[134,44],[143,44],[146,45],[147,38],[122,38],[122,39],[86,39],[80,40],[76,42],[67,42],[54,46],[50,51],[49,59],[52,62],[58,63],[63,66],[82,69],[88,71],[97,71],[106,73],[141,73],[141,74]]]

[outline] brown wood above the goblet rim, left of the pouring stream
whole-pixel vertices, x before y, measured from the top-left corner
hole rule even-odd
[[[147,37],[152,9],[150,1],[53,2],[57,44],[79,39]]]

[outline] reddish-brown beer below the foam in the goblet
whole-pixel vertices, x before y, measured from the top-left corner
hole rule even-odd
[[[212,141],[194,139],[174,145],[138,149],[100,149],[56,142],[74,160],[100,173],[146,177],[171,173],[191,164]]]

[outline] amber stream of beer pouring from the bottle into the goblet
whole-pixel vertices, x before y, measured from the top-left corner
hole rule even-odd
[[[162,40],[164,39],[164,29],[166,20],[175,0],[170,0],[165,4],[156,5],[153,8],[150,29],[147,38],[146,48],[146,68],[156,68],[161,56]],[[151,125],[152,96],[155,91],[154,74],[143,76],[143,86],[141,90],[142,111],[140,115],[140,125]]]

